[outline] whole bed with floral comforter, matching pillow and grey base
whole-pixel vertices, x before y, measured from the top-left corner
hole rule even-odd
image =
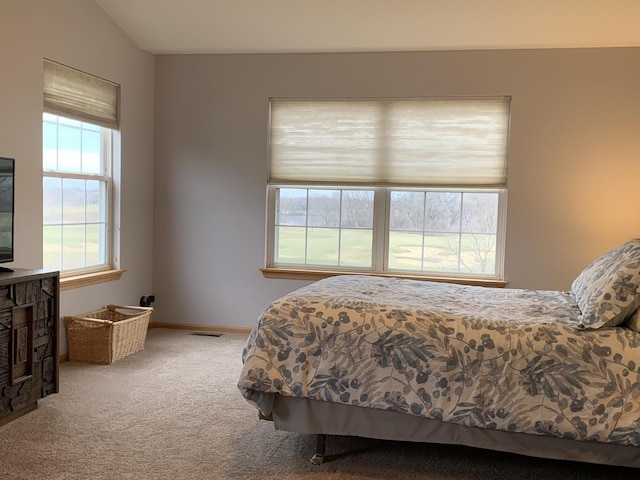
[[[326,278],[269,305],[238,387],[275,428],[640,467],[640,239],[570,290]]]

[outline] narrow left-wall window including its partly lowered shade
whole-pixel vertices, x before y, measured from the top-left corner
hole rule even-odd
[[[119,87],[48,60],[44,80],[44,267],[67,276],[112,269]]]

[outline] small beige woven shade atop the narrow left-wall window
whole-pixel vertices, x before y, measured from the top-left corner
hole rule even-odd
[[[117,130],[120,85],[45,59],[44,111]]]

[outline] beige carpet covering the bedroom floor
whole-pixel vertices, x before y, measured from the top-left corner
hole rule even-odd
[[[0,479],[629,479],[640,471],[445,445],[277,432],[240,396],[244,336],[154,329],[113,365],[64,363],[60,393],[0,427]]]

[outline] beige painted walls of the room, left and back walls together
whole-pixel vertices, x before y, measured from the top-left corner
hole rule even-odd
[[[93,2],[2,0],[0,155],[17,161],[16,267],[42,263],[43,57],[122,84],[127,273],[64,292],[63,315],[155,293],[156,321],[250,326],[305,284],[258,270],[271,96],[512,95],[511,287],[567,289],[640,234],[638,48],[154,58]]]

